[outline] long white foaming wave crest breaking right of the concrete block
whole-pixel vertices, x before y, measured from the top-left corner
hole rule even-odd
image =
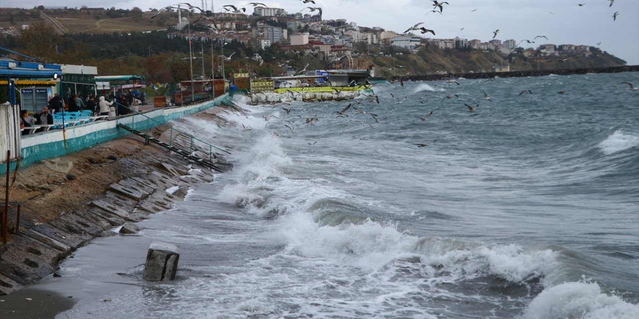
[[[367,220],[360,225],[319,226],[310,214],[286,216],[281,236],[289,249],[307,257],[339,258],[362,269],[380,269],[398,258],[420,255],[422,263],[443,265],[458,278],[493,275],[514,283],[543,276],[557,266],[551,249],[525,250],[521,246],[471,244],[419,239],[394,225]]]

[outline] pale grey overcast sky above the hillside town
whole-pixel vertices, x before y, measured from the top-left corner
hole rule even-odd
[[[191,1],[194,6],[206,6],[215,11],[225,4],[243,6],[249,1]],[[499,29],[497,39],[533,40],[544,35],[548,41],[538,38],[534,44],[523,47],[537,47],[544,43],[592,45],[624,59],[629,65],[639,64],[639,1],[616,0],[612,7],[609,0],[448,0],[443,5],[443,14],[428,13],[433,2],[427,0],[314,0],[316,4],[302,3],[302,0],[260,1],[270,8],[283,8],[288,13],[303,10],[307,6],[320,7],[323,19],[346,19],[357,22],[358,26],[383,27],[401,33],[417,22],[433,29],[433,38],[466,38],[489,41],[493,31]],[[176,4],[163,0],[114,0],[103,4],[105,8],[148,11]],[[583,6],[578,6],[578,4]],[[100,6],[95,1],[65,0],[3,0],[4,8],[34,8],[38,5],[68,6],[81,8]],[[252,13],[249,6],[247,13]],[[476,9],[476,10],[475,10]],[[475,11],[473,11],[475,10]],[[613,14],[619,12],[617,20]],[[316,13],[315,11],[314,13]],[[463,30],[460,30],[464,28]],[[418,35],[421,34],[418,32]],[[543,41],[541,41],[543,40]]]

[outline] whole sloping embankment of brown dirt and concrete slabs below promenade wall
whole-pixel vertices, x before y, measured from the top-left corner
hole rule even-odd
[[[236,110],[213,107],[197,116],[224,126],[217,114],[228,111]],[[179,136],[162,130],[153,135],[180,143]],[[221,154],[217,165],[231,168]],[[22,205],[19,234],[12,209],[10,236],[0,248],[0,295],[55,274],[64,258],[96,237],[115,235],[115,227],[135,233],[135,222],[171,209],[189,186],[212,181],[209,168],[135,135],[20,168],[10,196],[12,204]]]

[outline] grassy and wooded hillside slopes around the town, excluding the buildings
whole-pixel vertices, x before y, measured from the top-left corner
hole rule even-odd
[[[152,32],[170,28],[178,20],[178,13],[164,12],[155,19],[154,13],[133,10],[108,10],[102,8],[23,10],[3,8],[0,10],[0,27],[21,29],[31,26],[20,38],[1,36],[0,47],[9,48],[45,61],[67,64],[98,66],[100,75],[142,74],[153,81],[171,82],[188,80],[189,68],[185,59],[189,56],[188,42],[180,38],[169,39],[164,32]],[[195,20],[192,13],[191,20]],[[197,13],[199,16],[199,13]],[[194,30],[197,29],[194,26]],[[36,31],[37,30],[37,31]],[[206,29],[204,29],[206,30]],[[35,38],[33,33],[49,34]],[[121,36],[125,34],[127,36]],[[283,59],[293,59],[291,66],[300,69],[309,63],[308,70],[330,68],[328,61],[312,55],[296,56],[279,49],[275,44],[266,50],[256,51],[249,43],[228,41],[224,53],[237,52],[234,63],[224,66],[229,71],[250,70],[258,77],[280,75],[284,69],[277,66]],[[209,42],[210,43],[210,42]],[[212,70],[213,56],[220,54],[219,43],[213,50],[208,43],[194,43],[195,70]],[[369,47],[365,43],[353,45],[355,66],[376,66],[377,75],[391,77],[399,75],[429,74],[436,72],[466,73],[490,71],[496,65],[508,65],[511,71],[550,70],[560,68],[594,68],[619,66],[626,62],[599,48],[590,47],[592,56],[572,56],[565,62],[562,57],[526,57],[520,52],[500,55],[494,51],[441,49],[434,44],[422,43],[417,54],[399,47]],[[201,52],[201,53],[200,53]],[[367,52],[366,54],[364,52]],[[265,63],[260,66],[251,59],[259,53]],[[210,58],[208,58],[208,57]],[[207,58],[204,58],[207,57]],[[196,60],[194,60],[196,61]],[[218,61],[215,59],[215,61]],[[216,68],[217,68],[217,62]],[[222,70],[216,71],[221,75]],[[194,74],[202,73],[194,71]],[[216,75],[216,76],[218,76]]]

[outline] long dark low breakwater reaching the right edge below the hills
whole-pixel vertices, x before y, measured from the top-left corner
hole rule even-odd
[[[507,71],[507,72],[476,72],[476,73],[447,73],[447,74],[427,74],[427,75],[406,75],[390,77],[392,80],[413,80],[413,81],[436,81],[448,80],[449,78],[509,78],[509,77],[543,77],[544,75],[571,75],[587,73],[619,73],[639,71],[639,65],[631,66],[604,66],[601,68],[575,68],[575,69],[553,69],[553,70],[528,70],[528,71]]]

